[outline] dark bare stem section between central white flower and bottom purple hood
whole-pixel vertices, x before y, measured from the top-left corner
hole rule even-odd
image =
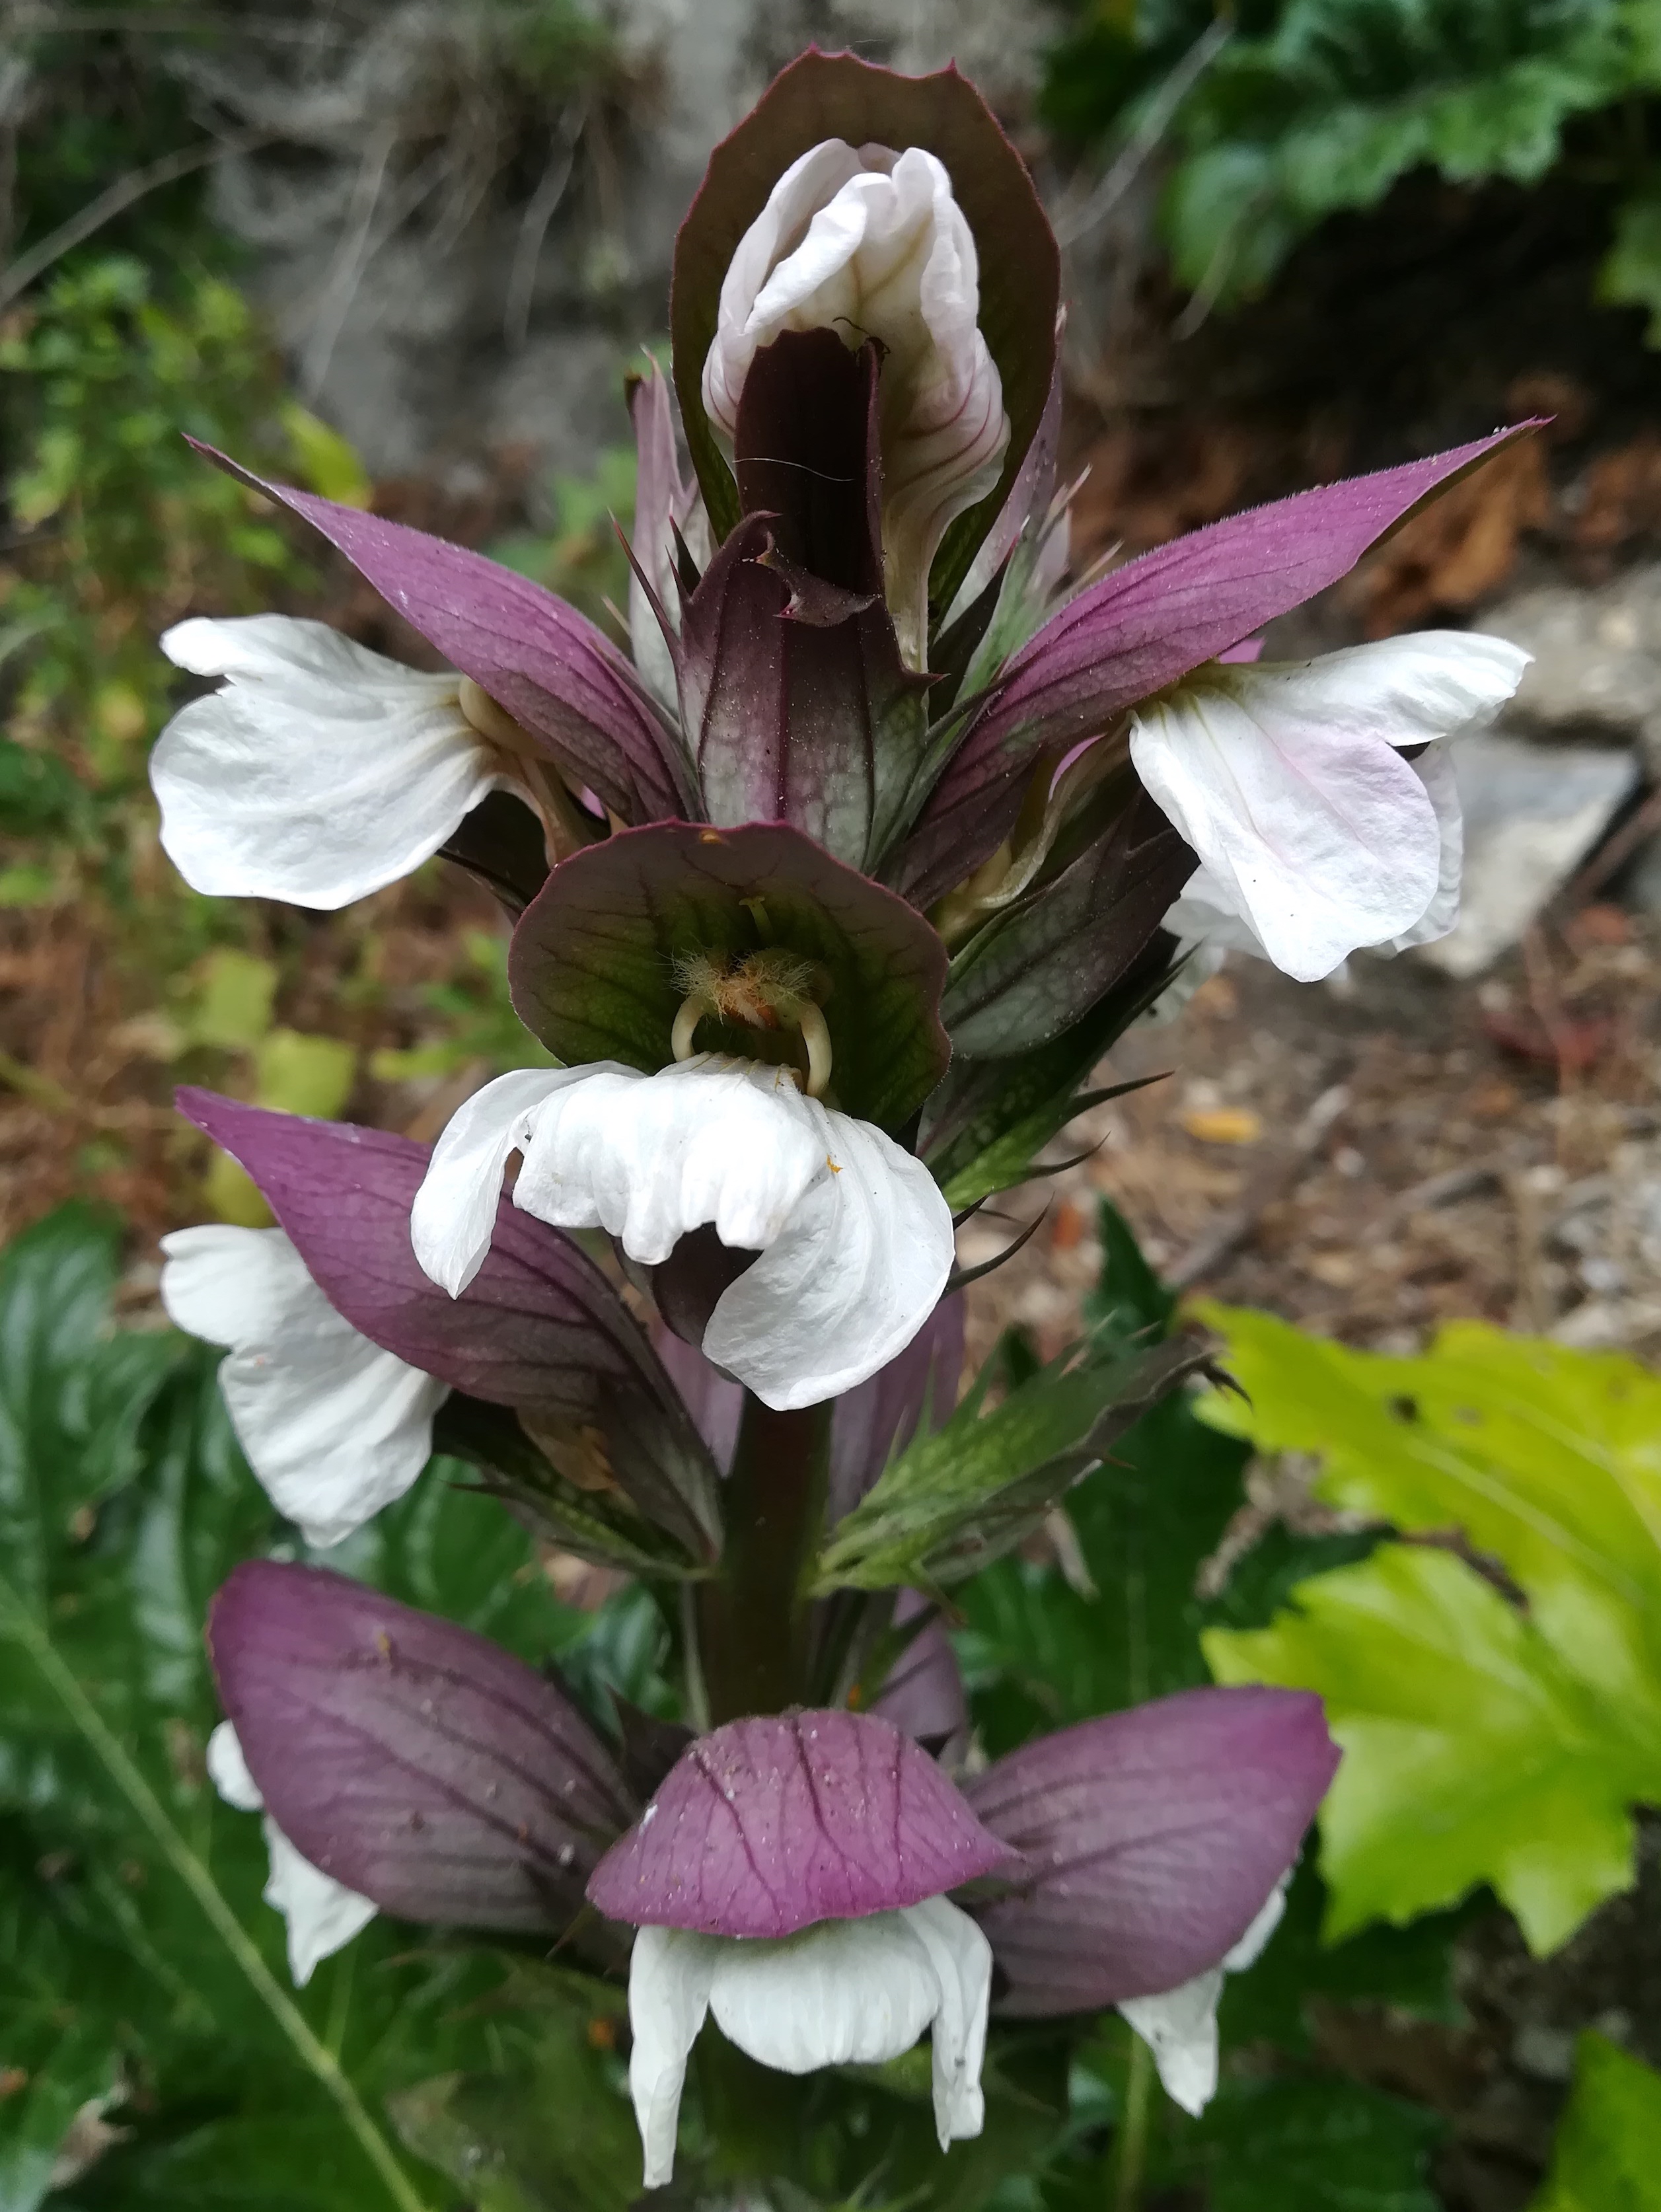
[[[774,1413],[745,1396],[721,1493],[721,1568],[699,1590],[699,1659],[717,1725],[807,1697],[801,1584],[825,1515],[829,1420],[829,1405]]]

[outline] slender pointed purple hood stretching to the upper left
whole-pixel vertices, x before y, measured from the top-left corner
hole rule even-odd
[[[197,451],[321,531],[451,668],[542,739],[568,783],[591,785],[624,821],[686,812],[692,787],[675,734],[575,606],[467,546],[270,484],[212,447]]]

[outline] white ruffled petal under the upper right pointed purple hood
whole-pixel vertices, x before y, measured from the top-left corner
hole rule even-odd
[[[1446,814],[1398,748],[1484,721],[1526,666],[1506,639],[1464,630],[1210,661],[1137,710],[1130,759],[1199,854],[1205,896],[1314,982],[1411,936],[1442,891]]]

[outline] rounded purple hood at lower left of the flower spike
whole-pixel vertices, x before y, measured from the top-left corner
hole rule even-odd
[[[343,1575],[254,1559],[208,1617],[265,1812],[405,1920],[562,1929],[633,1814],[571,1699],[500,1646]]]

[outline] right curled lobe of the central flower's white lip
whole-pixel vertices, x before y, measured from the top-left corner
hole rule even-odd
[[[951,1208],[880,1128],[798,1099],[818,1179],[783,1234],[728,1285],[703,1352],[765,1405],[838,1398],[887,1367],[929,1318],[953,1261]]]

